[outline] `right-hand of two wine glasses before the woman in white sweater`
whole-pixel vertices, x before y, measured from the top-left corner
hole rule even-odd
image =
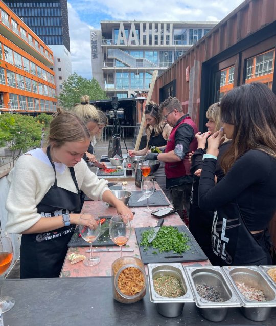
[[[127,243],[131,233],[131,225],[127,215],[112,216],[109,224],[109,235],[111,240],[120,246],[120,257],[122,257],[122,246]]]

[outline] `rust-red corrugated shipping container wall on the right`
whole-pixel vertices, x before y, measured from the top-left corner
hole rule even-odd
[[[212,67],[216,65],[218,69],[222,69],[223,65],[220,62],[224,61],[225,65],[226,60],[231,59],[235,64],[234,86],[242,83],[244,64],[241,60],[241,51],[252,46],[258,47],[268,38],[270,42],[267,46],[271,47],[272,44],[275,47],[275,22],[275,0],[244,1],[157,78],[152,99],[157,103],[164,100],[162,90],[167,84],[175,81],[173,95],[180,100],[185,112],[189,112],[200,126],[206,108],[214,102],[214,97],[211,96],[213,91],[211,83],[214,79]],[[206,70],[204,75],[202,67]],[[187,69],[189,81],[186,81]],[[273,90],[275,86],[274,82]]]

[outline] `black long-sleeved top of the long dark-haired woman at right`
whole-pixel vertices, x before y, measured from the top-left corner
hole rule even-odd
[[[249,150],[214,186],[216,161],[203,161],[199,207],[216,209],[236,199],[249,231],[265,229],[276,211],[276,159],[261,150]]]

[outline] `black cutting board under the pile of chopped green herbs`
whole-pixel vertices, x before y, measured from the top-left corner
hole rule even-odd
[[[177,228],[179,232],[185,232],[189,237],[187,244],[190,246],[190,249],[182,254],[173,253],[173,251],[160,253],[158,249],[152,247],[150,247],[147,251],[144,251],[144,246],[140,246],[141,234],[145,230],[152,229],[152,227],[135,228],[137,244],[139,246],[141,259],[144,264],[200,262],[208,259],[186,225],[178,225],[174,227]],[[154,251],[156,251],[157,254],[154,254]]]

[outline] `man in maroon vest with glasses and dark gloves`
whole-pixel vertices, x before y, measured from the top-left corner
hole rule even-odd
[[[190,174],[188,153],[195,151],[197,126],[189,114],[184,114],[181,103],[176,97],[169,96],[162,102],[159,110],[163,121],[173,127],[164,153],[148,153],[147,160],[165,162],[166,188],[171,190],[174,208],[185,224],[189,224],[189,202],[193,179]]]

